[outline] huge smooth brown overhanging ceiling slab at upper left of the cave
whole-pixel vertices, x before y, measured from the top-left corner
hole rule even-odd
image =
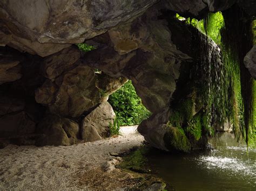
[[[0,44],[47,56],[130,22],[156,2],[4,0],[0,2]]]

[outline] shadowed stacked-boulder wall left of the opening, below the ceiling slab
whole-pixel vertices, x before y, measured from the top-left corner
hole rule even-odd
[[[73,46],[45,58],[9,47],[0,51],[0,66],[6,68],[0,70],[1,147],[8,143],[67,146],[110,136],[114,113],[106,101],[127,79],[96,74],[82,65],[82,53]],[[90,115],[93,124],[85,124]],[[92,127],[100,136],[85,133]]]

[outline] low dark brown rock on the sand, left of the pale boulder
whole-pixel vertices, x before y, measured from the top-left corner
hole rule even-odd
[[[42,135],[36,141],[37,146],[68,146],[77,143],[79,126],[68,118],[48,115],[39,123],[36,132]]]

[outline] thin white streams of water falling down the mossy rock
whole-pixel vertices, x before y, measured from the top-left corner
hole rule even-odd
[[[204,84],[207,86],[204,95],[204,100],[207,101],[207,122],[208,128],[211,128],[213,124],[225,121],[224,65],[218,45],[204,34],[198,33],[201,41],[200,64]]]

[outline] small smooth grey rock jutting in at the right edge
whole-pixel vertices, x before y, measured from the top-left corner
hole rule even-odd
[[[256,45],[246,54],[244,63],[252,77],[256,80]]]

